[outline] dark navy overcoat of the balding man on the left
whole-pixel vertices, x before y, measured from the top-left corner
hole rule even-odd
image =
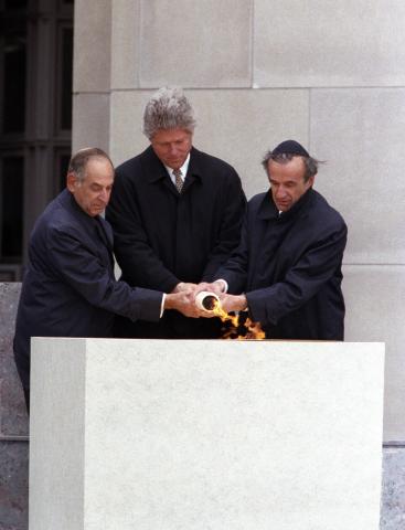
[[[162,294],[114,278],[113,232],[63,191],[39,218],[17,315],[14,356],[26,389],[30,338],[110,337],[114,312],[159,320]]]

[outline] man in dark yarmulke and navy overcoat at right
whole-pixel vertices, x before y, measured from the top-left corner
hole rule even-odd
[[[222,307],[248,311],[267,338],[343,340],[348,229],[313,190],[318,165],[295,140],[267,152],[270,189],[249,201],[241,244],[215,282],[199,287],[227,289]]]

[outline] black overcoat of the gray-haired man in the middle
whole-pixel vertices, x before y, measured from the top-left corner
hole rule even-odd
[[[151,147],[116,170],[107,219],[122,279],[170,293],[179,282],[211,279],[237,246],[246,200],[236,171],[192,148],[179,194]],[[215,320],[215,321],[214,321]],[[216,337],[217,319],[164,311],[159,325],[121,322],[128,337]]]

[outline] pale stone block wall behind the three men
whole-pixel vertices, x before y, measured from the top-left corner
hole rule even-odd
[[[115,163],[147,145],[150,94],[182,85],[195,146],[267,188],[266,149],[296,138],[349,225],[347,340],[386,343],[384,439],[405,442],[405,3],[401,0],[76,0],[74,149]]]

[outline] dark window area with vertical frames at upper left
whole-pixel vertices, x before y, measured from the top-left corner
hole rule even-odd
[[[0,15],[0,280],[13,282],[71,155],[73,0],[1,0]]]

